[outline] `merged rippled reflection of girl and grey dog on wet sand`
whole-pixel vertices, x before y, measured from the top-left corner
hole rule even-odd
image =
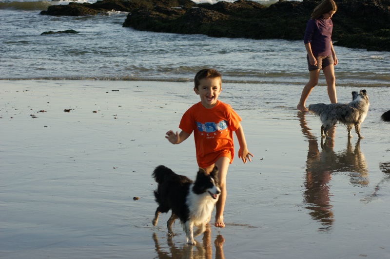
[[[318,231],[330,231],[334,221],[328,185],[331,174],[349,173],[352,184],[367,185],[366,160],[360,152],[360,139],[356,142],[354,149],[351,145],[351,138],[349,138],[344,151],[338,153],[333,151],[335,127],[328,131],[331,139],[324,140],[320,137],[321,151],[319,151],[317,138],[312,135],[306,123],[305,113],[298,112],[298,118],[302,133],[309,142],[304,199],[310,205],[306,208],[311,210],[309,214],[312,218],[322,224]]]

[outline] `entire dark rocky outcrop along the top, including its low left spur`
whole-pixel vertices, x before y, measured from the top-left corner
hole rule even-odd
[[[96,15],[129,12],[123,27],[211,37],[303,40],[307,21],[320,1],[261,5],[251,0],[195,4],[191,0],[102,0],[53,5],[41,14]],[[390,0],[336,0],[335,45],[389,51]]]

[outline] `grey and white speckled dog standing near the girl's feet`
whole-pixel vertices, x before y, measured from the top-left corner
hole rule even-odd
[[[347,125],[348,138],[351,138],[352,127],[355,126],[355,131],[359,139],[364,138],[360,135],[360,124],[366,119],[369,111],[370,100],[366,90],[361,90],[360,93],[352,92],[352,101],[350,103],[317,103],[309,105],[309,112],[318,116],[322,122],[321,136],[327,139],[327,131],[337,122]]]

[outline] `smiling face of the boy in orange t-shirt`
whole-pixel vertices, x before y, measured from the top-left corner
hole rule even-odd
[[[222,91],[221,78],[204,78],[199,80],[198,88],[194,88],[197,95],[200,96],[202,105],[207,108],[213,108],[216,100]]]

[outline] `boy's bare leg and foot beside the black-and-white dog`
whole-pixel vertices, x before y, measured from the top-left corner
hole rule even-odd
[[[216,227],[225,227],[223,222],[223,211],[225,209],[226,202],[226,175],[228,174],[230,159],[227,157],[219,158],[215,161],[215,165],[218,166],[218,180],[219,188],[221,189],[221,194],[216,203],[216,212],[215,212],[215,226]]]

